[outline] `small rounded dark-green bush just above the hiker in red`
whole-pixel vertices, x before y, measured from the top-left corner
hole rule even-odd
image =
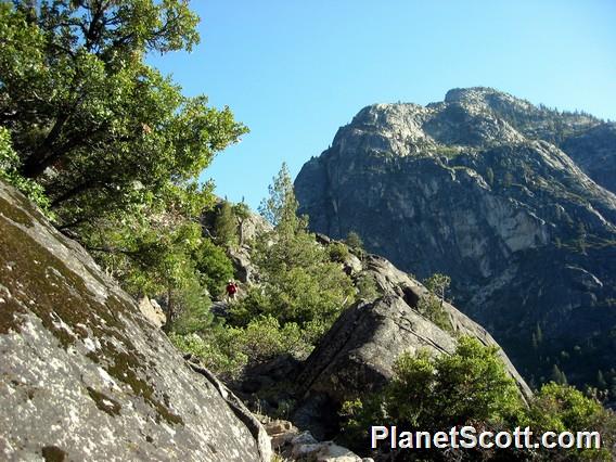
[[[209,239],[202,240],[200,246],[193,252],[198,277],[210,295],[222,293],[224,284],[233,278],[233,264],[224,253]]]

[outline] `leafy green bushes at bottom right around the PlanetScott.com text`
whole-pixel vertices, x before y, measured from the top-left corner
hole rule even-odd
[[[462,449],[454,460],[612,460],[609,448],[616,437],[612,411],[575,388],[555,383],[544,385],[525,406],[497,347],[462,337],[450,356],[431,358],[425,351],[414,357],[401,355],[394,372],[394,378],[381,392],[343,406],[349,444],[365,448],[371,425],[432,433],[454,425],[496,432],[529,426],[535,435],[547,431],[598,431],[602,449],[511,450],[506,454]],[[450,460],[434,448],[415,449],[412,454],[422,460]],[[406,455],[409,453],[398,453],[400,460],[408,460]]]

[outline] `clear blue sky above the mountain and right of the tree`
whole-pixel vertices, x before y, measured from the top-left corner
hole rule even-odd
[[[614,0],[193,0],[191,54],[151,62],[251,128],[203,174],[255,208],[282,162],[295,175],[377,102],[487,86],[616,119]]]

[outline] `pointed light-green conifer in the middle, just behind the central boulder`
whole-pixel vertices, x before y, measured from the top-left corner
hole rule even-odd
[[[233,306],[238,325],[259,315],[275,318],[281,325],[299,325],[305,338],[316,342],[351,301],[355,290],[338,264],[307,232],[297,217],[297,201],[286,166],[283,165],[261,214],[274,224],[255,242],[253,261],[260,285]]]

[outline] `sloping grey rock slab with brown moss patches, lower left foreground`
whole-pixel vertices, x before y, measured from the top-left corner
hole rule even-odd
[[[265,429],[0,182],[0,459],[269,461]]]

